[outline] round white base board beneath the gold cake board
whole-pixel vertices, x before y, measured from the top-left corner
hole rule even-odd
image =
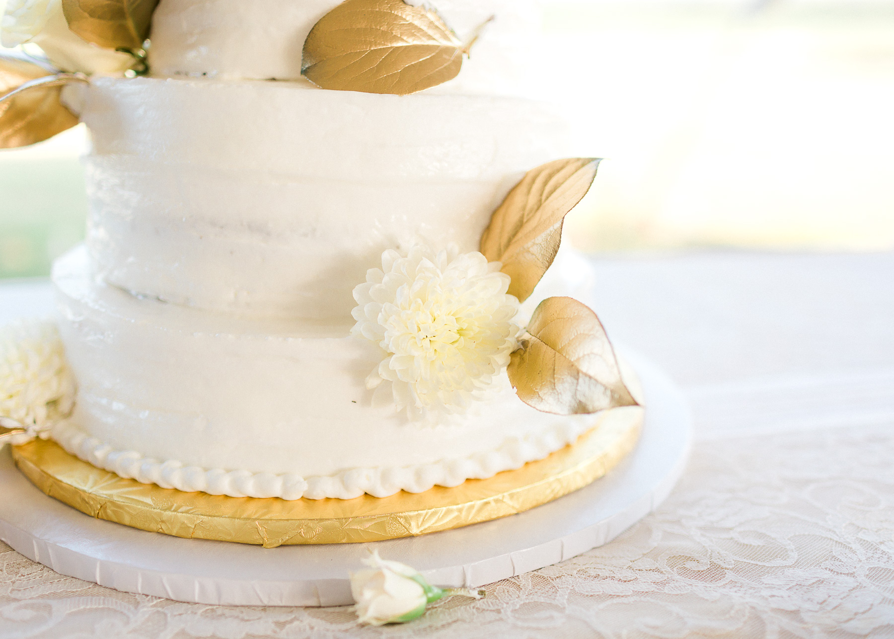
[[[652,512],[683,472],[691,439],[686,400],[653,364],[624,353],[647,404],[636,449],[602,479],[519,515],[375,544],[265,549],[188,540],[94,519],[47,497],[19,473],[7,448],[0,455],[0,539],[63,575],[207,604],[350,604],[349,571],[374,545],[432,584],[490,584],[611,541]]]

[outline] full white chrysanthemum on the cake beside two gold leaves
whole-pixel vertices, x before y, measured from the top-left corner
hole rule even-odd
[[[412,419],[461,413],[498,388],[519,332],[519,301],[506,294],[510,278],[500,266],[455,245],[437,254],[425,246],[385,251],[382,268],[354,289],[352,335],[388,354],[367,388],[381,393],[390,384],[398,410]]]

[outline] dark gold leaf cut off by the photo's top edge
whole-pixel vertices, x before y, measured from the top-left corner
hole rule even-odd
[[[158,0],[63,0],[68,28],[109,49],[143,47]]]

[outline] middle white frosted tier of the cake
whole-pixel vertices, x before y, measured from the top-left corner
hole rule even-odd
[[[95,272],[256,317],[347,317],[382,251],[475,251],[528,169],[569,157],[550,106],[307,82],[94,80],[66,89],[86,158]]]

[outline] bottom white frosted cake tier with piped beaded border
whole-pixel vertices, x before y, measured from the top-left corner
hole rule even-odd
[[[79,395],[53,437],[123,477],[232,497],[384,497],[517,468],[595,422],[540,413],[508,379],[449,424],[409,422],[372,405],[364,379],[382,352],[350,324],[141,299],[89,277],[82,248],[57,260],[54,281]],[[544,294],[569,293],[553,285]]]

